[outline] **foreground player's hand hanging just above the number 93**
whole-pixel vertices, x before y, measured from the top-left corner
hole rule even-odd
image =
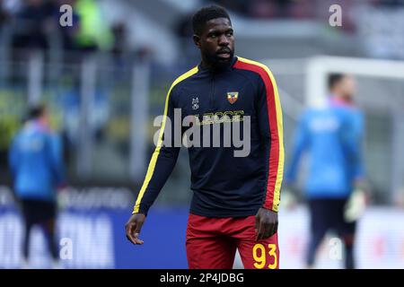
[[[257,241],[268,239],[277,233],[277,213],[266,208],[259,208],[255,216],[255,229],[257,230]]]

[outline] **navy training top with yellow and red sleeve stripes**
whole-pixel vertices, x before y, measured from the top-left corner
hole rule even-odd
[[[211,128],[208,133],[200,132],[200,146],[188,148],[190,188],[194,192],[190,213],[238,217],[255,215],[260,207],[278,211],[284,144],[277,83],[266,65],[234,57],[231,65],[220,71],[198,65],[172,83],[159,140],[137,195],[134,213],[148,212],[177,161],[180,146],[166,144],[166,139],[175,134],[175,128],[181,133],[186,133],[186,128],[174,126],[174,109],[180,110],[181,119],[194,117],[193,125],[201,130],[220,126],[222,136],[221,144],[213,145],[215,133]],[[233,142],[225,145],[224,123],[239,124],[240,138],[248,138],[247,127],[243,126],[248,123],[244,120],[246,116],[250,117],[249,143],[243,147]],[[232,135],[233,132],[234,126]],[[247,156],[234,156],[234,151],[247,146]]]

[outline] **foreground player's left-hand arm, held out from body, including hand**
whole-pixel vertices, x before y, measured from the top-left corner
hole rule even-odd
[[[180,152],[180,147],[174,146],[174,104],[171,92],[170,89],[164,106],[162,127],[145,175],[144,183],[136,197],[132,216],[125,225],[127,239],[134,244],[144,243],[143,240],[138,239],[138,236],[145,222],[145,217],[165,182],[170,177]]]

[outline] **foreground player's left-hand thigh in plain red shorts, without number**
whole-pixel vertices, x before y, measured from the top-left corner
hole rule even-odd
[[[189,269],[232,269],[236,252],[234,239],[224,237],[186,240]]]

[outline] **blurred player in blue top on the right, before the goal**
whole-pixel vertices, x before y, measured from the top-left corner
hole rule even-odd
[[[352,192],[365,189],[361,160],[364,119],[354,103],[355,91],[352,76],[331,74],[328,101],[323,107],[307,109],[296,130],[285,184],[294,183],[301,155],[308,152],[310,166],[304,191],[311,217],[311,239],[306,257],[309,268],[314,265],[322,239],[331,229],[345,243],[346,268],[355,267],[354,239],[358,214],[355,209],[361,205],[361,201],[356,200],[361,196],[353,197]],[[353,204],[356,206],[349,206]]]

